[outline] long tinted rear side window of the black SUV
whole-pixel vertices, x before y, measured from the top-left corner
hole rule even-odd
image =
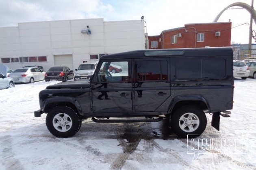
[[[221,79],[226,75],[224,59],[176,60],[176,79]]]

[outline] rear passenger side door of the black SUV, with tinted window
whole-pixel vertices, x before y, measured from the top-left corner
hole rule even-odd
[[[163,111],[159,106],[170,96],[169,58],[135,59],[134,104],[135,112]]]

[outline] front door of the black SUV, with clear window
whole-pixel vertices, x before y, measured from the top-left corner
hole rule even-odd
[[[102,60],[97,66],[92,86],[92,111],[106,115],[132,113],[131,60]],[[118,65],[122,72],[110,73],[110,64]]]

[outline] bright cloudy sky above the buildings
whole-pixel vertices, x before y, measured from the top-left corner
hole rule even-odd
[[[136,20],[143,15],[148,35],[152,36],[187,23],[213,22],[224,8],[235,2],[251,5],[252,0],[0,0],[0,27],[69,19]],[[248,11],[226,10],[218,22],[228,22],[229,19],[232,22],[231,43],[247,44]]]

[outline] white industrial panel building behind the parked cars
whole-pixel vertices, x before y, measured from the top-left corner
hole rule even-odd
[[[68,66],[96,61],[104,54],[145,49],[143,20],[76,19],[18,23],[0,28],[1,63],[23,66]]]

